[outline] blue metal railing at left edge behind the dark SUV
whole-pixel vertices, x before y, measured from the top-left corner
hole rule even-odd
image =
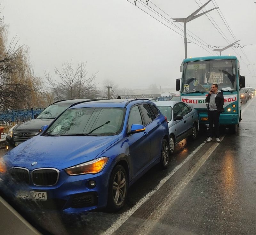
[[[0,125],[11,125],[13,122],[24,122],[34,118],[35,114],[39,114],[44,108],[37,109],[23,109],[23,110],[10,110],[0,111]]]

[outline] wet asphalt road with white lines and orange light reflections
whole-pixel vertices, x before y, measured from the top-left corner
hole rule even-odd
[[[236,135],[224,131],[220,144],[205,143],[206,132],[183,140],[169,168],[140,178],[117,214],[46,212],[40,224],[53,234],[256,234],[256,99],[242,108]]]

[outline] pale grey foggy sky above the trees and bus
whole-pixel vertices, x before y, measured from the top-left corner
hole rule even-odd
[[[137,6],[133,0],[129,1],[133,4],[126,0],[3,0],[1,16],[9,25],[9,41],[17,35],[19,44],[29,46],[36,76],[44,77],[45,69],[53,74],[55,66],[61,67],[62,63],[72,59],[74,63],[87,62],[88,75],[99,71],[99,86],[104,80],[111,79],[119,87],[146,88],[156,83],[161,87],[170,85],[170,91],[174,91],[175,80],[181,77],[184,38],[141,11],[138,7],[156,17],[140,0]],[[143,2],[146,3],[146,0]],[[153,0],[148,5],[170,19],[187,17],[199,7],[196,2],[200,4],[199,0]],[[201,2],[204,4],[207,1]],[[214,8],[213,3],[210,2],[206,9]],[[216,0],[216,3],[236,39],[241,39],[240,45],[256,43],[256,4],[253,0]],[[210,15],[228,42],[235,42],[218,11],[213,10]],[[184,35],[166,21],[161,21]],[[180,27],[183,29],[183,25]],[[187,30],[211,46],[228,45],[205,15],[188,22]],[[245,46],[243,51],[239,48],[234,50],[229,48],[222,55],[237,56],[246,86],[256,87],[256,64],[247,65],[249,62],[256,63],[256,45]],[[219,53],[209,51],[213,55]],[[210,56],[210,52],[200,45],[188,43],[188,57]]]

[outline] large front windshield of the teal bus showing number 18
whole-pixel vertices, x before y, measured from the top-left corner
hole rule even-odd
[[[205,60],[184,63],[181,92],[208,92],[212,84],[218,90],[236,90],[235,60]]]

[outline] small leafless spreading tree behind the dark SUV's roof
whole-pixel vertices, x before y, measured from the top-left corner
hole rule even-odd
[[[72,60],[55,67],[54,78],[49,71],[44,71],[47,84],[50,86],[54,100],[93,98],[99,93],[96,84],[97,73],[87,77],[86,63],[78,62],[74,67]],[[57,81],[60,80],[59,82]]]

